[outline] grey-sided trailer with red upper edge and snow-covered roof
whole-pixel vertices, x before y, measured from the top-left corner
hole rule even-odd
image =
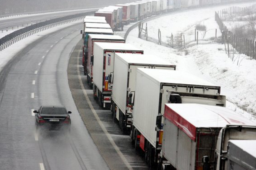
[[[233,125],[235,126],[232,127]],[[225,128],[228,128],[227,133],[220,136],[219,133]],[[161,144],[162,159],[167,160],[162,167],[167,169],[165,166],[168,162],[176,170],[202,170],[202,160],[207,156],[208,165],[213,170],[217,157],[215,150],[218,148],[225,150],[219,145],[225,140],[224,136],[229,138],[228,141],[230,139],[244,141],[250,138],[255,140],[256,123],[225,107],[201,104],[166,104],[162,142],[161,137],[159,142],[155,141],[159,145]],[[230,150],[227,153],[223,156],[226,154],[230,158],[235,156],[233,155],[235,153],[231,155]],[[227,160],[223,159],[223,161],[228,163]]]

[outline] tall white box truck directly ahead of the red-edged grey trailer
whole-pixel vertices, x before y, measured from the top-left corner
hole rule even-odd
[[[138,68],[132,112],[131,139],[135,148],[154,147],[160,153],[155,131],[156,117],[163,115],[166,103],[198,103],[226,106],[221,87],[183,71]],[[153,129],[152,129],[153,128]],[[150,145],[149,145],[150,144]]]

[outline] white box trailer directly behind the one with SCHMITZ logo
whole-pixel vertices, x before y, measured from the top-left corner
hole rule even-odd
[[[131,127],[132,105],[128,100],[135,93],[137,68],[175,70],[176,66],[155,55],[116,53],[111,111],[124,132]]]

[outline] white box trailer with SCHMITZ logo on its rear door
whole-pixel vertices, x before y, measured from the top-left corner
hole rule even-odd
[[[94,95],[100,106],[110,108],[112,87],[109,86],[109,74],[114,70],[116,53],[143,54],[143,50],[124,43],[94,43],[93,72]]]

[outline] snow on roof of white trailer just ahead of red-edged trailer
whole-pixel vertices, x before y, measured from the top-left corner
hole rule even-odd
[[[189,85],[203,85],[203,86],[214,86],[219,87],[207,80],[195,76],[185,71],[174,71],[174,70],[160,70],[160,69],[147,69],[138,68],[139,72],[144,72],[148,78],[154,79],[160,83],[172,83],[172,84],[189,84]]]

